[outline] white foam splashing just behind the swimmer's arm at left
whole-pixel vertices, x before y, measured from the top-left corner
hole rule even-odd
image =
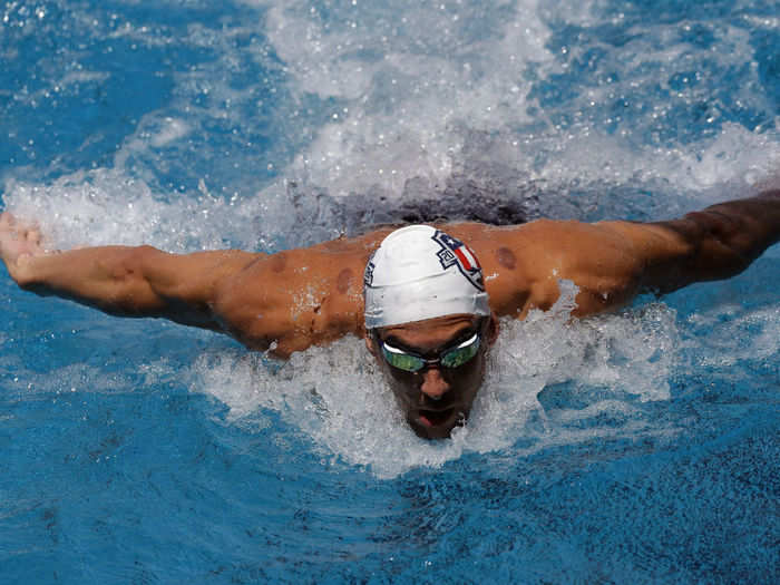
[[[172,131],[164,129],[164,133]],[[163,138],[162,138],[163,139]],[[169,199],[149,185],[115,169],[65,175],[49,184],[10,179],[6,208],[35,221],[52,250],[85,245],[149,244],[169,252],[240,247],[275,251],[333,238],[339,225],[304,223],[311,198],[292,201],[280,186],[263,198],[213,196],[203,179],[196,194]]]

